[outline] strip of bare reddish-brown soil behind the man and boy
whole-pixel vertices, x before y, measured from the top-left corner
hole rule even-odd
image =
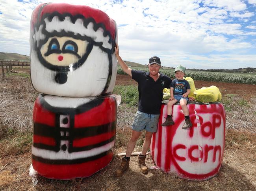
[[[133,85],[137,84],[135,80],[133,80],[128,75],[117,75],[117,80],[115,85]],[[250,95],[256,95],[256,85],[250,84],[232,84],[225,82],[206,82],[206,81],[195,81],[195,87],[209,87],[211,85],[215,85],[219,88],[222,94],[238,94],[248,97]]]

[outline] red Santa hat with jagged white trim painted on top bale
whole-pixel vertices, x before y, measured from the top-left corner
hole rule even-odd
[[[31,31],[34,32],[32,32],[33,39],[37,45],[51,33],[91,38],[106,49],[112,49],[115,45],[115,21],[103,11],[85,5],[65,3],[38,5],[32,13],[31,27]]]

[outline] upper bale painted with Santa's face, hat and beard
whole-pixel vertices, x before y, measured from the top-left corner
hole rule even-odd
[[[69,97],[111,93],[117,27],[106,13],[84,5],[41,4],[30,28],[31,80],[45,94]]]

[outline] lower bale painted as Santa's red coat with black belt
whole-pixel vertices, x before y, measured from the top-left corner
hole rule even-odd
[[[33,168],[61,180],[93,175],[112,160],[116,120],[112,95],[39,95],[33,109]]]

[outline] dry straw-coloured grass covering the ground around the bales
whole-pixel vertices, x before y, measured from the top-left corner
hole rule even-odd
[[[13,77],[13,76],[12,76]],[[69,190],[69,191],[171,191],[171,190],[256,190],[256,140],[255,126],[249,127],[253,123],[255,116],[242,115],[233,103],[223,103],[230,106],[226,109],[227,131],[226,146],[224,151],[224,161],[217,176],[206,181],[189,181],[177,178],[176,176],[164,173],[158,169],[150,169],[144,175],[139,172],[137,156],[131,157],[130,167],[120,178],[115,177],[115,170],[119,167],[121,157],[114,155],[111,163],[89,178],[77,178],[74,180],[62,181],[51,180],[38,177],[38,184],[33,187],[32,179],[28,175],[31,164],[31,137],[32,137],[32,107],[35,99],[33,89],[28,79],[22,83],[5,78],[0,80],[0,190]],[[20,88],[23,87],[24,88]],[[3,97],[2,97],[3,96]],[[7,101],[8,100],[8,101]],[[246,109],[246,102],[241,101],[241,107],[245,113],[255,112],[255,104],[251,100],[249,110]],[[245,105],[243,105],[245,104]],[[231,107],[232,106],[232,107]],[[248,106],[248,105],[247,105]],[[117,116],[117,136],[115,153],[123,153],[131,135],[132,125],[136,108],[122,104],[118,107]],[[237,114],[237,113],[238,114]],[[240,113],[239,113],[240,112]],[[25,114],[26,113],[26,116]],[[234,114],[235,113],[235,114]],[[236,116],[234,116],[236,115]],[[252,117],[252,121],[250,119]],[[238,120],[238,121],[236,121]],[[243,124],[240,126],[240,124]],[[242,122],[242,123],[241,123]],[[233,125],[234,124],[234,125]],[[237,127],[238,126],[238,127]],[[238,130],[237,130],[238,129]],[[241,129],[244,129],[241,131]],[[246,130],[246,131],[245,131]],[[138,141],[135,151],[140,151],[143,136]],[[2,139],[2,140],[1,140]],[[150,155],[147,156],[147,166],[154,165]]]

